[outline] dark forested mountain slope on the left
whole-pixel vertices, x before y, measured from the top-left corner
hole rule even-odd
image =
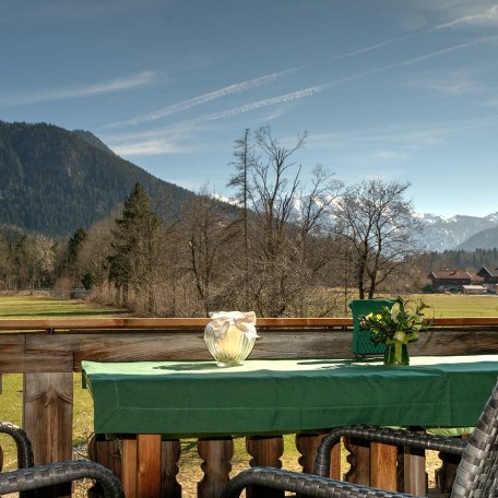
[[[140,182],[173,210],[193,194],[121,159],[90,132],[0,121],[0,224],[67,236],[109,216]]]

